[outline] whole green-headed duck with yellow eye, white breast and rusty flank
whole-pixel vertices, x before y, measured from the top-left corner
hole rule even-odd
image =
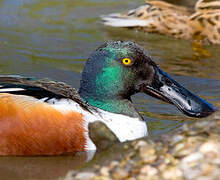
[[[89,56],[77,91],[63,82],[0,76],[0,155],[96,151],[89,124],[103,123],[119,142],[148,135],[131,96],[145,93],[191,117],[216,108],[161,70],[134,42],[108,41]]]

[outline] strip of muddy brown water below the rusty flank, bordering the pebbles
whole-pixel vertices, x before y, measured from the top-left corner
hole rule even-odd
[[[127,151],[126,144],[115,143],[111,148],[96,154],[91,151],[62,156],[0,157],[0,179],[62,179],[69,171],[89,168],[94,164],[100,166],[108,162],[108,159],[121,159]]]

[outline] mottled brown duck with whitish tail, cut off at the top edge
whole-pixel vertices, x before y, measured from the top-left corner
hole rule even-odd
[[[198,0],[194,9],[147,0],[136,9],[101,16],[106,26],[137,28],[201,44],[220,44],[220,1]]]

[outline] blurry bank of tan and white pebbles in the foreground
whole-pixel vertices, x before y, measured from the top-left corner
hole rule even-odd
[[[126,143],[119,156],[106,156],[100,163],[105,166],[90,167],[95,176],[82,169],[64,180],[220,180],[220,113],[214,117],[185,124],[159,140]]]

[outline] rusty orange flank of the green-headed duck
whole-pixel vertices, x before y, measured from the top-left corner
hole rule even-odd
[[[27,96],[0,95],[0,155],[51,155],[85,150],[82,114],[62,113]]]

